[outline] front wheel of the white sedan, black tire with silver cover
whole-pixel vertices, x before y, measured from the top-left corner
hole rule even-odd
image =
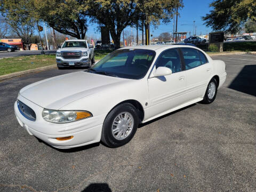
[[[138,111],[130,103],[123,103],[107,115],[102,126],[101,141],[110,148],[123,146],[133,138],[138,125]]]

